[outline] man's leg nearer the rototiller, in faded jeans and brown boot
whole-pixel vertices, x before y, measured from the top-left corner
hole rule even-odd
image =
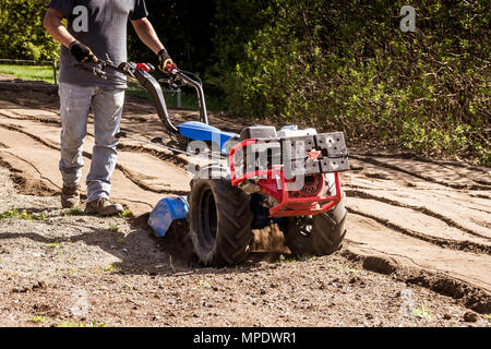
[[[93,99],[95,145],[91,172],[87,176],[87,210],[112,215],[122,212],[121,205],[109,203],[111,176],[118,153],[116,146],[124,104],[124,89],[96,88]]]

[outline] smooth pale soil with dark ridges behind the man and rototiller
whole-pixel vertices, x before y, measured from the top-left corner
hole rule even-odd
[[[0,91],[0,161],[23,194],[49,196],[60,190],[57,109],[56,95]],[[130,98],[122,130],[147,140],[163,136],[153,110],[141,99]],[[183,121],[188,112],[175,115]],[[211,123],[228,131],[240,129],[235,120],[224,116],[211,116]],[[89,128],[84,176],[93,143]],[[397,275],[405,282],[454,297],[467,308],[490,313],[490,169],[395,153],[370,154],[363,149],[351,149],[351,155],[352,170],[343,174],[350,213],[348,233],[344,250],[334,260],[348,258],[366,269]],[[122,140],[113,198],[140,215],[164,196],[184,194],[190,180],[184,170],[188,161],[182,156],[170,157],[165,149]],[[59,205],[57,197],[49,200],[52,207]],[[321,262],[309,263],[291,268],[301,273],[306,267],[310,272]],[[282,265],[284,269],[288,267]],[[208,272],[203,273],[206,276]],[[224,275],[229,274],[220,273],[220,278]]]

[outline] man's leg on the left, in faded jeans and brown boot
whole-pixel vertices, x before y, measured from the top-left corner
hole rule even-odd
[[[79,204],[79,183],[84,166],[82,148],[87,134],[87,118],[94,87],[60,83],[61,159],[59,164],[63,189],[61,205],[72,208]]]

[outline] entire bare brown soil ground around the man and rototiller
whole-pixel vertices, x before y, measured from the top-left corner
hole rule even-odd
[[[491,323],[489,168],[348,144],[340,251],[292,260],[273,228],[254,232],[243,265],[203,268],[182,240],[185,225],[164,239],[146,226],[160,198],[189,191],[190,158],[123,139],[112,200],[134,217],[68,214],[59,198],[56,89],[20,88],[0,85],[0,213],[46,219],[0,219],[0,326]],[[196,112],[171,115],[179,123]],[[225,115],[209,121],[236,132],[244,124]],[[127,100],[121,129],[170,141],[153,106],[136,97]],[[93,134],[91,122],[84,176]]]

